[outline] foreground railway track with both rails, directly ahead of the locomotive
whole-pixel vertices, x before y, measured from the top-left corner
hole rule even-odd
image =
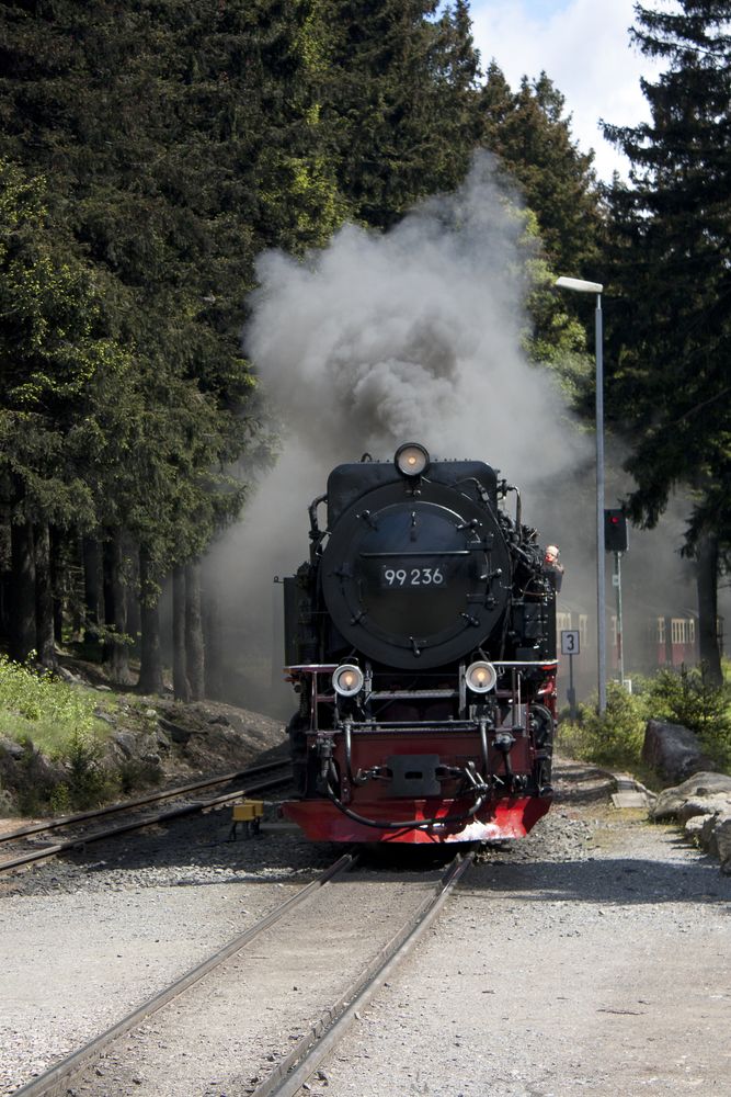
[[[446,872],[389,873],[341,857],[14,1097],[54,1097],[71,1083],[80,1097],[294,1095],[431,925],[470,860],[458,857]]]

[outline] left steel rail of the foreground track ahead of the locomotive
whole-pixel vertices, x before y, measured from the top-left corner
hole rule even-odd
[[[203,979],[204,975],[207,975],[208,972],[218,968],[242,948],[245,948],[247,945],[263,934],[265,929],[270,929],[274,926],[294,907],[299,906],[301,903],[310,898],[319,887],[322,887],[331,880],[334,880],[335,877],[350,871],[356,863],[357,855],[344,853],[328,869],[325,869],[324,872],[317,878],[317,880],[312,880],[309,884],[306,884],[306,886],[298,891],[296,895],[292,895],[274,911],[265,915],[250,929],[239,934],[230,940],[228,945],[225,945],[224,948],[214,952],[199,964],[196,964],[195,968],[192,968],[184,975],[181,975],[181,977],[175,980],[174,983],[171,983],[170,986],[167,986],[151,998],[148,998],[141,1004],[141,1006],[138,1006],[130,1014],[127,1014],[127,1016],[123,1017],[116,1025],[113,1025],[104,1032],[101,1032],[89,1043],[84,1044],[83,1048],[80,1048],[60,1063],[52,1066],[39,1077],[34,1078],[33,1082],[28,1082],[20,1089],[15,1089],[13,1092],[13,1097],[61,1097],[61,1095],[66,1097],[69,1081],[73,1077],[73,1075],[83,1070],[83,1067],[93,1061],[95,1056],[100,1055],[105,1048],[117,1039],[117,1037],[124,1036],[125,1032],[135,1028],[135,1026],[139,1025],[151,1014],[161,1009],[162,1006],[165,1006],[169,1002],[172,1002],[190,986],[193,986],[194,983],[197,983],[201,979]]]

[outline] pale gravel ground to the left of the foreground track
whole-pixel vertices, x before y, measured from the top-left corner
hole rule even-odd
[[[11,1094],[283,903],[336,856],[230,810],[0,880],[0,1094]],[[332,855],[332,856],[331,856]]]

